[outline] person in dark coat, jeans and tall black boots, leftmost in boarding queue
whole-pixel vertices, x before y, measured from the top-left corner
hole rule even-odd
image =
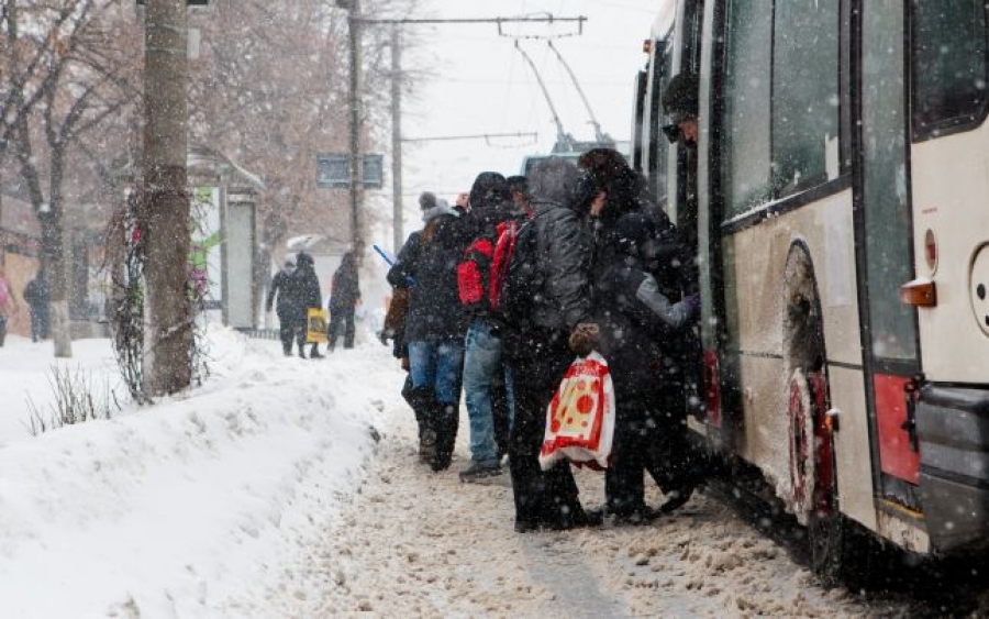
[[[410,289],[404,343],[412,389],[408,400],[420,425],[420,457],[433,471],[449,466],[459,421],[467,321],[457,297],[457,261],[464,252],[458,214],[432,194],[420,196],[425,226],[410,235],[388,272],[393,287]]]

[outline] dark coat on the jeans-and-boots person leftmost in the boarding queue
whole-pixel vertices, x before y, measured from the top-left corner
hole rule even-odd
[[[440,215],[421,232],[413,232],[402,245],[388,283],[409,288],[411,299],[405,319],[405,343],[463,340],[467,317],[457,295],[457,262],[465,250],[462,222]]]

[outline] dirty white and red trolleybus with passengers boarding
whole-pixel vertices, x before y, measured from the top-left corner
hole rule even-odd
[[[808,526],[989,542],[984,0],[659,2],[632,161],[701,272],[702,423]],[[668,79],[700,77],[671,144]]]

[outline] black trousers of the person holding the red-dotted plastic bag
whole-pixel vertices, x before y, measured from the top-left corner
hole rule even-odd
[[[515,378],[515,420],[509,443],[515,520],[566,528],[584,516],[570,464],[560,462],[544,472],[538,456],[546,407],[574,353],[567,347],[565,333],[543,333],[526,340],[507,351]]]

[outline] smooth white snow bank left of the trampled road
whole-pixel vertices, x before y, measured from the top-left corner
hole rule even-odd
[[[99,365],[109,346],[77,353]],[[188,396],[8,438],[3,616],[215,616],[231,597],[263,611],[245,585],[363,479],[369,427],[385,421],[374,393],[397,390],[399,374],[382,346],[312,362],[216,331],[211,347],[213,376]]]

